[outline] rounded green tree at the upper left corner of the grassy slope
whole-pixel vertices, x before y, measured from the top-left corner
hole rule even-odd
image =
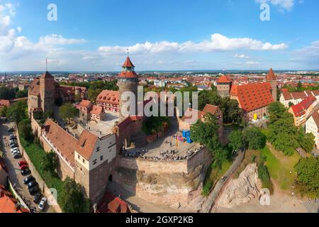
[[[257,127],[246,128],[244,130],[244,138],[248,147],[252,150],[259,150],[264,148],[266,143],[266,136],[262,134]]]

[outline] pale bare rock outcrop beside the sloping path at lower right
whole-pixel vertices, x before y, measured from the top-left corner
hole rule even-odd
[[[246,204],[259,196],[262,183],[258,178],[257,164],[247,165],[237,179],[231,179],[216,201],[215,209],[219,207],[233,208]]]

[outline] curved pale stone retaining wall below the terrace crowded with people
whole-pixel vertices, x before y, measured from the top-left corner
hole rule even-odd
[[[113,180],[130,193],[155,204],[187,206],[201,196],[211,164],[205,148],[189,160],[152,161],[118,156]]]

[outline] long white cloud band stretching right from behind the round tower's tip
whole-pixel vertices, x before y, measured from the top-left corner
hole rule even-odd
[[[211,40],[203,40],[201,43],[187,41],[185,43],[171,43],[162,41],[158,43],[137,43],[132,46],[101,46],[99,51],[105,55],[123,54],[127,49],[131,54],[142,55],[145,53],[159,52],[217,52],[227,50],[284,50],[288,48],[286,43],[263,43],[252,38],[228,38],[225,35],[215,33]]]

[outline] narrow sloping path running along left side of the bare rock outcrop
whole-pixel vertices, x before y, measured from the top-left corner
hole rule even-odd
[[[230,175],[237,169],[237,167],[242,163],[242,160],[245,157],[245,150],[241,150],[240,153],[235,158],[235,161],[230,166],[230,168],[225,172],[225,175],[220,178],[220,180],[216,183],[215,187],[211,191],[211,193],[207,196],[206,201],[204,201],[202,205],[202,213],[209,213],[213,207],[214,202],[216,201],[218,195],[220,194],[220,190],[223,189],[223,186],[228,181]]]

